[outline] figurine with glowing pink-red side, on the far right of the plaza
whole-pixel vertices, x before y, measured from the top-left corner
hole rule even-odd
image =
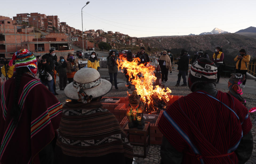
[[[246,102],[244,98],[241,97],[243,94],[241,87],[239,86],[245,81],[245,75],[240,73],[232,73],[228,82],[229,91],[228,93],[237,98],[242,103]]]

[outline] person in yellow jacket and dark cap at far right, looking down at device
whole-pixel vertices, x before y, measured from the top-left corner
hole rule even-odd
[[[239,54],[234,58],[235,64],[235,73],[241,73],[245,75],[245,81],[243,81],[241,88],[245,87],[246,82],[246,72],[248,69],[248,64],[250,62],[251,56],[246,53],[245,49],[241,49]]]

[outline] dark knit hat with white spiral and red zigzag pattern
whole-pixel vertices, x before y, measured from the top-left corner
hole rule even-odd
[[[216,80],[217,67],[214,62],[206,58],[200,58],[193,62],[188,78],[190,90],[197,83],[213,83],[216,86]]]

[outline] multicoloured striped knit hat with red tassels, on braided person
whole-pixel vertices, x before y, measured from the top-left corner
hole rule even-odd
[[[29,52],[29,50],[21,49],[15,52],[9,62],[9,66],[13,65],[14,60],[15,68],[27,67],[31,73],[34,75],[37,74],[37,59],[31,52]]]

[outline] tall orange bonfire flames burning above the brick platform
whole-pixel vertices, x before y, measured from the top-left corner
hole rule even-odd
[[[170,98],[172,98],[171,90],[168,87],[165,90],[158,85],[153,86],[153,82],[157,79],[154,75],[155,66],[138,65],[139,58],[135,58],[132,62],[129,62],[125,57],[120,55],[119,59],[117,60],[118,69],[126,68],[129,81],[135,86],[137,93],[141,95],[142,102],[147,104],[146,111],[158,110],[155,107],[158,103],[164,102],[167,104]],[[138,76],[139,74],[141,74],[141,77]],[[127,94],[129,95],[128,92]]]

